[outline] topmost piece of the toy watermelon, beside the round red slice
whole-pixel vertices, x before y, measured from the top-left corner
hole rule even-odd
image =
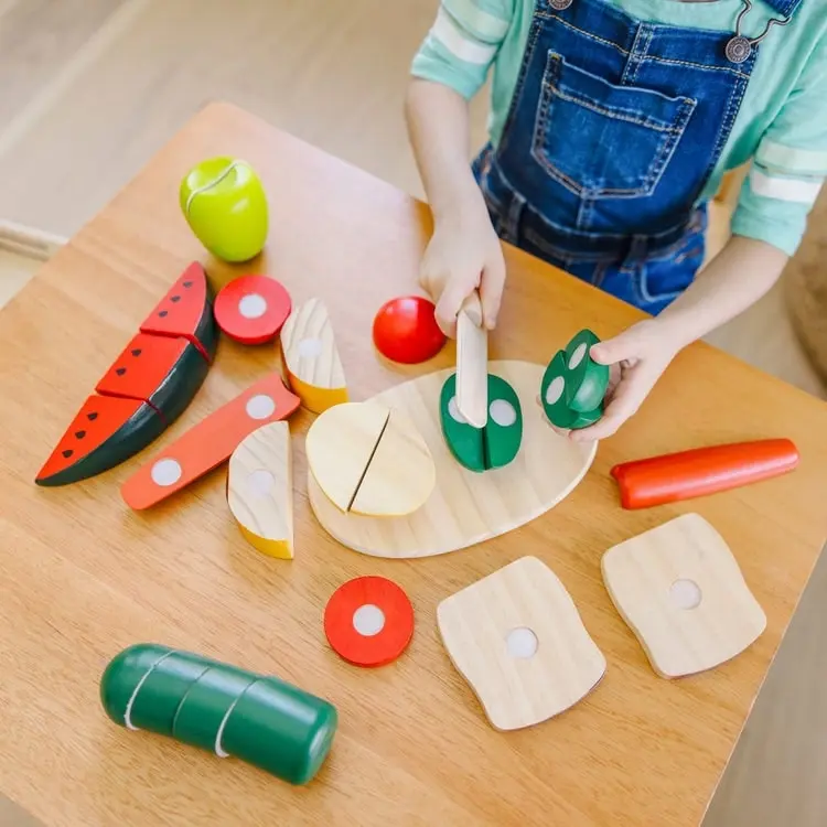
[[[218,344],[213,292],[206,271],[193,261],[140,326],[141,333],[183,337],[212,362]]]

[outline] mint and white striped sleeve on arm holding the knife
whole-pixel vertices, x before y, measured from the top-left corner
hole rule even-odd
[[[472,98],[505,40],[515,0],[442,0],[411,74]]]

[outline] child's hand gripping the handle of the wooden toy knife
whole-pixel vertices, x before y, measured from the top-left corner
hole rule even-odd
[[[486,329],[493,330],[500,312],[505,259],[482,202],[481,206],[438,222],[422,258],[419,283],[437,305],[437,324],[452,339],[460,308],[477,288]]]

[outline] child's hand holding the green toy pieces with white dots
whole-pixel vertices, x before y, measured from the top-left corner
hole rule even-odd
[[[569,438],[586,442],[611,437],[637,412],[679,350],[668,325],[656,319],[638,322],[614,339],[593,345],[591,357],[611,365],[605,409],[594,425],[570,431]]]

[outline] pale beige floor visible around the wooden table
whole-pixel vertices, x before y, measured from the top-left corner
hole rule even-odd
[[[437,1],[0,0],[0,219],[72,235],[217,98],[421,196],[401,96]],[[475,146],[485,117],[481,99]],[[33,270],[0,253],[0,304]],[[710,342],[825,396],[782,296],[780,287]],[[706,827],[827,824],[825,604],[827,562]],[[29,821],[0,802],[0,827],[7,825]]]

